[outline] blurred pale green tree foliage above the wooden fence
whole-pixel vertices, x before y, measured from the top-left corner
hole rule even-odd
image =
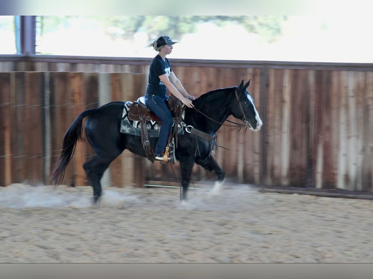
[[[43,16],[42,32],[53,32],[61,27],[73,27],[81,16]],[[87,29],[104,28],[112,39],[130,39],[135,33],[145,31],[149,41],[159,34],[181,38],[196,31],[198,24],[210,22],[218,26],[240,24],[248,33],[255,33],[266,42],[273,42],[281,35],[281,26],[287,16],[87,16],[82,21]],[[80,26],[80,28],[84,26]],[[228,39],[228,38],[227,38]]]

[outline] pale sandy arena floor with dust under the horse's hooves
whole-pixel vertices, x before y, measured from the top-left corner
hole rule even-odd
[[[373,201],[178,188],[0,187],[0,262],[372,262]]]

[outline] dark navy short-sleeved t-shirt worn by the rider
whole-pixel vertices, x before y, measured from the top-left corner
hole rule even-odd
[[[160,80],[159,76],[163,74],[170,75],[172,69],[169,64],[168,59],[163,61],[162,57],[158,54],[151,60],[149,67],[149,81],[148,87],[145,95],[158,95],[165,97],[167,93],[167,87]]]

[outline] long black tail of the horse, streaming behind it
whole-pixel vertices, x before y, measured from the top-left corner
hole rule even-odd
[[[59,185],[65,176],[65,170],[71,158],[74,156],[76,142],[81,139],[83,131],[83,119],[89,116],[94,110],[87,109],[81,112],[78,117],[70,124],[65,136],[63,137],[62,152],[58,162],[54,166],[51,174],[51,181],[55,185]]]

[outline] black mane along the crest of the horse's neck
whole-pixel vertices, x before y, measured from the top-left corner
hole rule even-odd
[[[218,88],[207,93],[202,94],[199,98],[197,98],[193,104],[196,107],[222,107],[227,102],[230,102],[230,98],[233,94],[229,94],[234,92],[235,87],[227,87],[227,88]]]

